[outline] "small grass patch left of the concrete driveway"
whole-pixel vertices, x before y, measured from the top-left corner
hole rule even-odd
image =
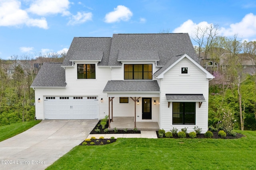
[[[38,124],[39,122],[40,120],[36,120],[36,121],[20,122],[20,123],[13,123],[10,125],[0,126],[0,132],[1,132],[0,142],[30,129],[31,127]]]

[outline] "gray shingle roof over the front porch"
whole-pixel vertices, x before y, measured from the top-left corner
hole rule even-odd
[[[156,81],[131,80],[131,81],[108,81],[103,92],[159,92],[160,88]]]

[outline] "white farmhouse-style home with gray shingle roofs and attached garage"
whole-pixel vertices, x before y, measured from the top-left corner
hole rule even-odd
[[[74,37],[63,63],[44,63],[31,87],[36,119],[110,115],[205,133],[212,78],[188,33],[113,34]]]

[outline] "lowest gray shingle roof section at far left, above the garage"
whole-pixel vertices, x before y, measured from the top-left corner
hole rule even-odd
[[[62,63],[44,63],[30,87],[66,87]]]

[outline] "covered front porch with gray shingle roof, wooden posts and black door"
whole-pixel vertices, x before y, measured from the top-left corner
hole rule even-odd
[[[108,81],[103,92],[108,94],[109,129],[159,130],[160,90],[156,81]]]

